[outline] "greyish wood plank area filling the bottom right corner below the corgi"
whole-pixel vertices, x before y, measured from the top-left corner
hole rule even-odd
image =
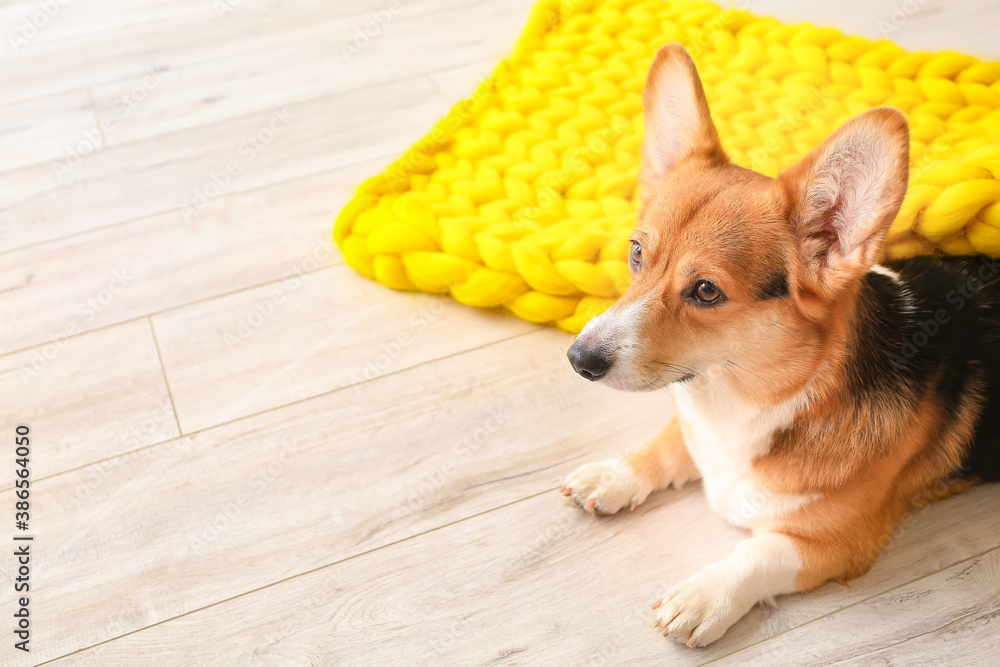
[[[1000,550],[887,591],[718,665],[995,665]]]

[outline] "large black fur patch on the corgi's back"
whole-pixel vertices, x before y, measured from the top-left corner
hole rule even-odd
[[[913,405],[932,392],[947,432],[974,393],[982,407],[956,473],[1000,481],[1000,263],[914,257],[886,266],[902,285],[875,272],[862,283],[852,394],[883,405],[908,396]]]

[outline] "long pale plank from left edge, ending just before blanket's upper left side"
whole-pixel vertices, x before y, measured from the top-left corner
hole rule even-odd
[[[0,179],[4,247],[170,210],[188,221],[222,194],[400,153],[446,110],[437,88],[418,77],[113,147],[68,173],[23,167],[16,179]]]

